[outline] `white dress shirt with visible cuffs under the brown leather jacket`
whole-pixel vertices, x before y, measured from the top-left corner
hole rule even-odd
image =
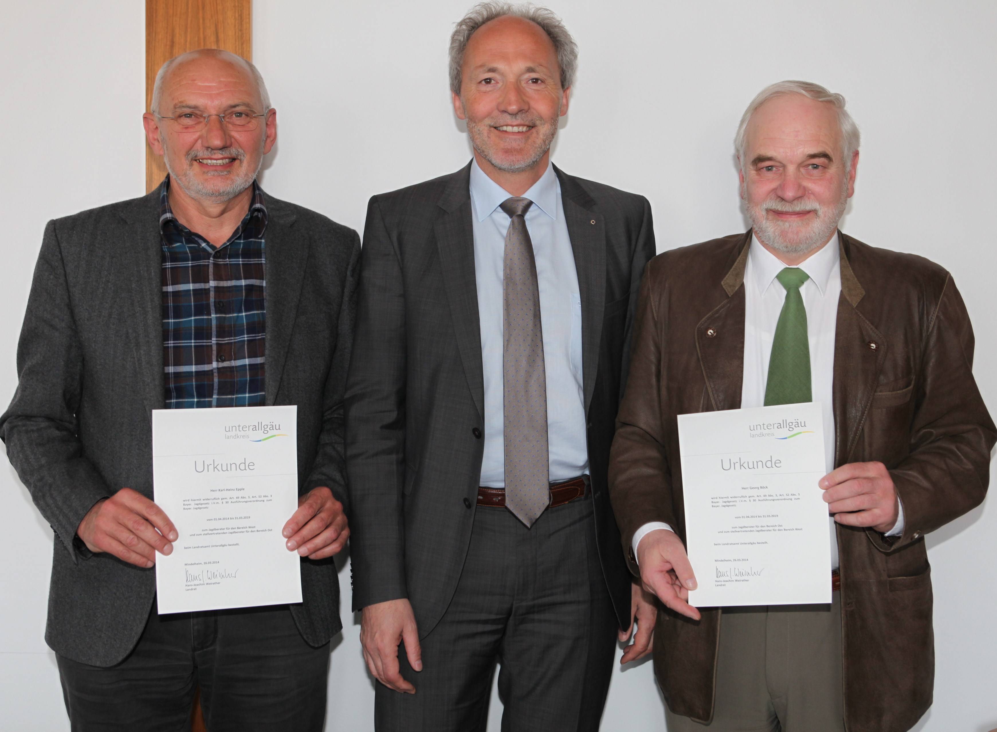
[[[837,233],[805,261],[800,268],[809,279],[800,287],[807,310],[807,336],[811,352],[811,397],[824,407],[825,469],[834,469],[834,413],[831,393],[834,381],[834,332],[837,328],[837,301],[841,294],[841,260]],[[741,407],[765,406],[765,387],[769,377],[769,358],[776,324],[786,301],[786,288],[776,279],[786,268],[779,257],[752,236],[745,267],[745,353],[744,379],[741,386]],[[815,491],[820,491],[817,485]],[[831,522],[831,568],[837,568],[837,537]],[[649,522],[633,535],[634,555],[640,540],[657,530],[671,527],[662,522]],[[898,537],[903,533],[903,507],[896,524],[886,534]]]

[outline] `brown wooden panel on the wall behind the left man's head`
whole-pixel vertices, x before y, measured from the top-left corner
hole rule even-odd
[[[160,67],[197,48],[220,48],[252,60],[252,0],[146,0],[146,109]],[[146,191],[166,166],[146,145]]]

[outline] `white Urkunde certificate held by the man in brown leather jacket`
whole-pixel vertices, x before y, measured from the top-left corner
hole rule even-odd
[[[831,602],[820,403],[678,418],[690,604]]]

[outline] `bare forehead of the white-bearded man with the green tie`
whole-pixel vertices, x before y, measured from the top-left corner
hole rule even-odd
[[[748,160],[758,155],[807,156],[821,151],[840,158],[841,128],[828,102],[801,95],[776,97],[755,111],[745,133]]]

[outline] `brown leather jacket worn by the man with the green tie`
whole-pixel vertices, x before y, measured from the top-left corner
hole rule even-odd
[[[994,424],[973,379],[973,332],[948,272],[840,235],[834,340],[834,465],[880,461],[903,503],[894,540],[837,526],[844,721],[901,732],[931,704],[934,637],[924,535],[979,505]],[[643,524],[685,539],[676,416],[738,409],[751,232],[667,251],[645,269],[626,394],[609,466],[630,569]],[[721,610],[665,610],[654,669],[676,714],[713,716]]]

